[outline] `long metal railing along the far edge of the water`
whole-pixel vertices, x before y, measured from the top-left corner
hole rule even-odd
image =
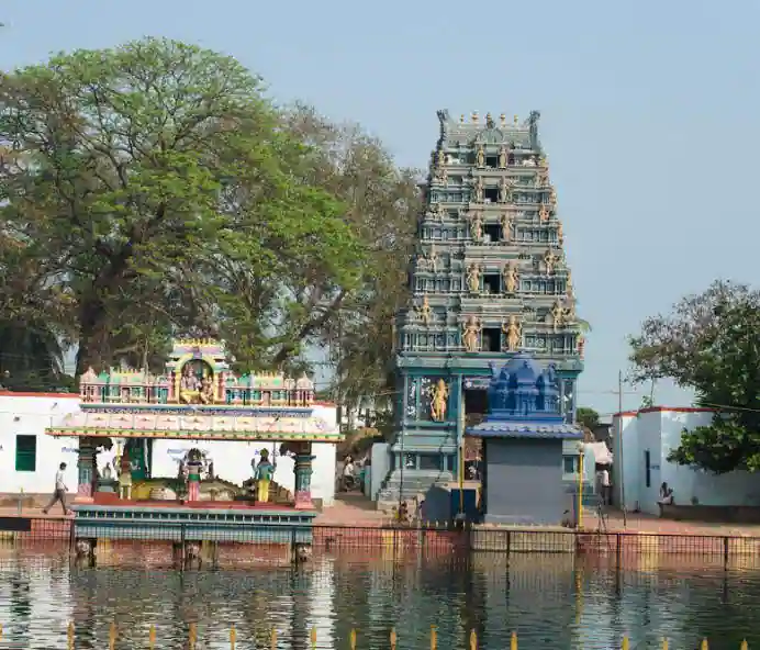
[[[239,549],[288,547],[288,541],[308,540],[313,552],[369,551],[377,554],[410,552],[467,554],[512,553],[584,553],[623,563],[626,559],[655,559],[663,556],[693,557],[711,563],[730,565],[758,561],[760,537],[726,535],[672,535],[642,533],[607,533],[584,530],[511,529],[471,526],[404,527],[404,526],[309,526],[288,527],[256,525],[250,530],[239,526],[205,526],[160,522],[144,528],[120,530],[110,523],[88,526],[88,537],[112,547],[160,546],[177,542],[203,542]],[[234,530],[234,534],[233,534]],[[0,517],[0,547],[74,547],[78,536],[71,519],[42,517]]]

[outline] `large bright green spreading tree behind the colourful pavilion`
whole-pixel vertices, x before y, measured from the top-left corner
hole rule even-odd
[[[3,236],[70,301],[77,374],[192,328],[282,363],[360,276],[343,205],[231,57],[148,38],[3,75],[0,145]]]

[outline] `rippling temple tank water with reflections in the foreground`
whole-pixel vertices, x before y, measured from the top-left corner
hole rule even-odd
[[[519,648],[697,648],[739,647],[747,638],[760,648],[760,574],[736,569],[679,565],[615,571],[565,556],[503,556],[372,559],[370,553],[315,557],[303,568],[246,570],[75,569],[64,553],[3,553],[0,558],[0,648],[53,650],[67,647],[74,621],[76,648],[188,648],[190,623],[198,626],[197,649],[228,649],[230,627],[237,650],[270,648],[387,649],[395,627],[399,650],[431,647],[431,626],[442,650],[469,649],[474,629],[479,647]]]

